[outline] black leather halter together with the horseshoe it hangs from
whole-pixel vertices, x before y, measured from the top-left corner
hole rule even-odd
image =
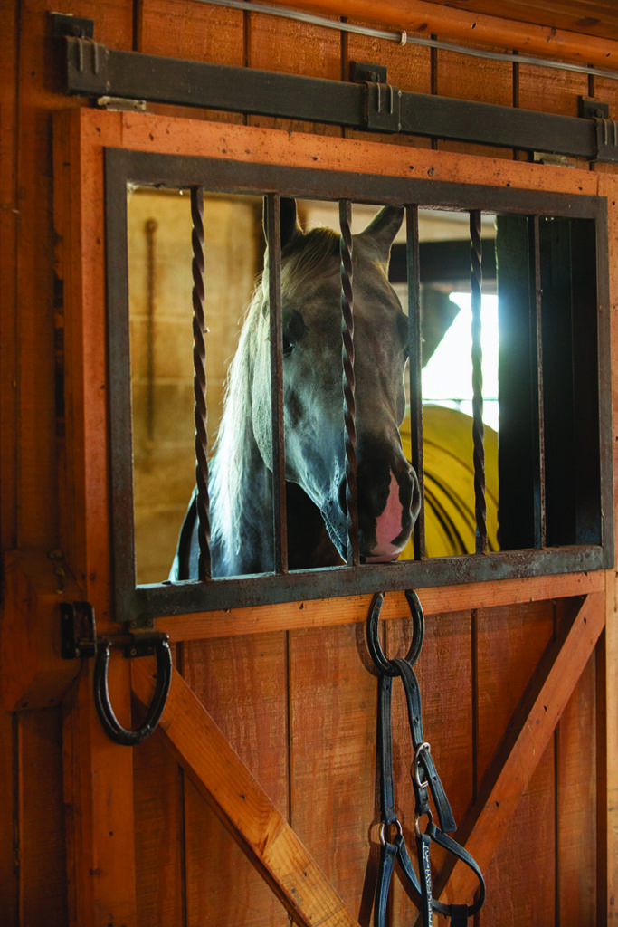
[[[367,617],[367,645],[372,655],[373,663],[380,674],[378,686],[378,763],[380,767],[380,800],[382,805],[382,824],[380,826],[380,843],[382,844],[380,867],[375,887],[375,900],[373,903],[374,927],[386,925],[386,903],[388,890],[395,866],[399,863],[402,876],[420,899],[420,908],[423,914],[423,925],[429,927],[433,922],[433,912],[437,911],[444,917],[451,919],[451,927],[465,927],[468,918],[472,917],[483,907],[485,901],[485,881],[481,870],[473,857],[457,844],[448,832],[457,829],[453,813],[448,804],[442,782],[435,769],[434,758],[431,755],[429,743],[423,736],[423,715],[421,709],[421,692],[414,674],[413,666],[416,663],[424,636],[424,616],[421,603],[416,592],[407,591],[406,598],[410,605],[410,615],[413,622],[412,642],[410,650],[404,659],[388,660],[383,653],[378,638],[378,621],[380,609],[384,602],[384,594],[377,593],[373,597],[372,607]],[[410,855],[406,847],[403,830],[397,819],[395,807],[395,783],[393,778],[393,743],[391,731],[391,694],[393,679],[401,679],[408,706],[408,720],[410,724],[410,737],[412,741],[413,758],[410,768],[412,786],[415,797],[415,825],[416,853],[419,864],[420,878],[412,867]],[[434,816],[429,805],[429,795],[434,800],[435,813],[439,827],[434,823]],[[424,832],[421,831],[421,819],[427,819]],[[466,864],[479,882],[479,892],[473,905],[445,905],[436,901],[432,895],[432,873],[429,860],[429,851],[432,841],[442,846],[448,853]]]

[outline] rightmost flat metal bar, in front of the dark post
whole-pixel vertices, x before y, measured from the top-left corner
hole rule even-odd
[[[533,473],[535,547],[542,549],[546,544],[547,523],[545,505],[545,413],[543,390],[543,327],[541,315],[541,247],[538,216],[528,220],[530,236],[530,278],[533,303],[530,309],[530,344],[533,350],[531,363],[533,389],[534,439],[537,442]]]

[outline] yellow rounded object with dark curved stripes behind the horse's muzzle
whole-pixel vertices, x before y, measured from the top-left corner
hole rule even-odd
[[[400,429],[410,459],[410,420]],[[425,549],[428,557],[475,550],[473,420],[443,406],[423,406]],[[498,433],[485,425],[487,550],[498,551]],[[412,543],[401,560],[414,556]]]

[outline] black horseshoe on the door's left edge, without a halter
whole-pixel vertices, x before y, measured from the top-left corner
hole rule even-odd
[[[163,714],[168,692],[170,692],[170,644],[168,643],[167,635],[158,638],[154,642],[155,654],[157,655],[157,684],[145,721],[137,730],[127,730],[122,727],[109,701],[107,667],[109,665],[109,652],[111,647],[112,641],[104,639],[99,643],[96,649],[94,671],[96,714],[103,726],[103,730],[107,733],[107,737],[115,743],[120,743],[121,746],[132,747],[137,743],[142,743],[147,737],[150,737],[152,732],[157,728],[160,717]]]

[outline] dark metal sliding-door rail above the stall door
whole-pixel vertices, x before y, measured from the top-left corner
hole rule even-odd
[[[72,95],[147,100],[618,162],[616,122],[414,94],[386,83],[385,69],[379,66],[359,67],[357,82],[347,83],[115,51],[87,38],[68,37],[66,43],[66,88]]]

